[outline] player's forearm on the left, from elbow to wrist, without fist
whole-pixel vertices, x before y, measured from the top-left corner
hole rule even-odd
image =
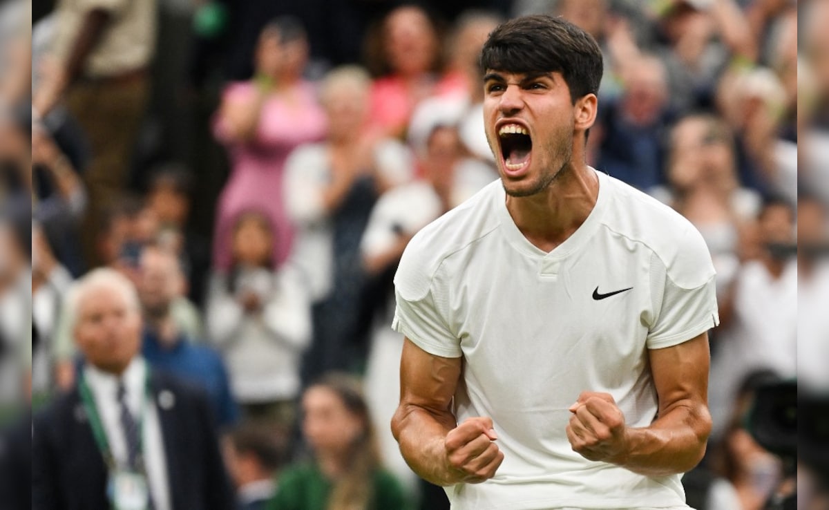
[[[449,470],[444,442],[457,425],[448,410],[437,412],[422,406],[401,404],[391,420],[391,431],[409,467],[424,480],[448,486],[461,480]]]

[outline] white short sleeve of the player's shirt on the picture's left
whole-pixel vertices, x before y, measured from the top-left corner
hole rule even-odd
[[[395,318],[391,328],[429,354],[461,357],[460,340],[449,327],[446,299],[436,284],[421,236],[406,247],[395,274]]]

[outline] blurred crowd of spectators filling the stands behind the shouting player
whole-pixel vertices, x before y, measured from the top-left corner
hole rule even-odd
[[[829,390],[829,0],[2,4],[0,420],[132,338],[128,287],[124,359],[201,387],[239,508],[447,508],[390,433],[392,279],[497,178],[478,52],[536,12],[604,53],[588,163],[714,259],[715,430],[689,504],[759,510],[796,484],[827,508],[826,473],[745,417],[775,381]]]

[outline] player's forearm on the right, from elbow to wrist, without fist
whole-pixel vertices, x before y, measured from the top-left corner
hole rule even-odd
[[[705,454],[711,418],[704,405],[673,407],[650,426],[628,428],[627,448],[613,464],[645,476],[668,476],[693,469]]]

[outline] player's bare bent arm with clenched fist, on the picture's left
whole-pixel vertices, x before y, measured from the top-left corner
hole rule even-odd
[[[400,406],[391,430],[411,469],[437,485],[479,483],[495,474],[503,454],[492,420],[470,418],[457,425],[450,410],[462,358],[438,357],[408,338],[400,361]]]

